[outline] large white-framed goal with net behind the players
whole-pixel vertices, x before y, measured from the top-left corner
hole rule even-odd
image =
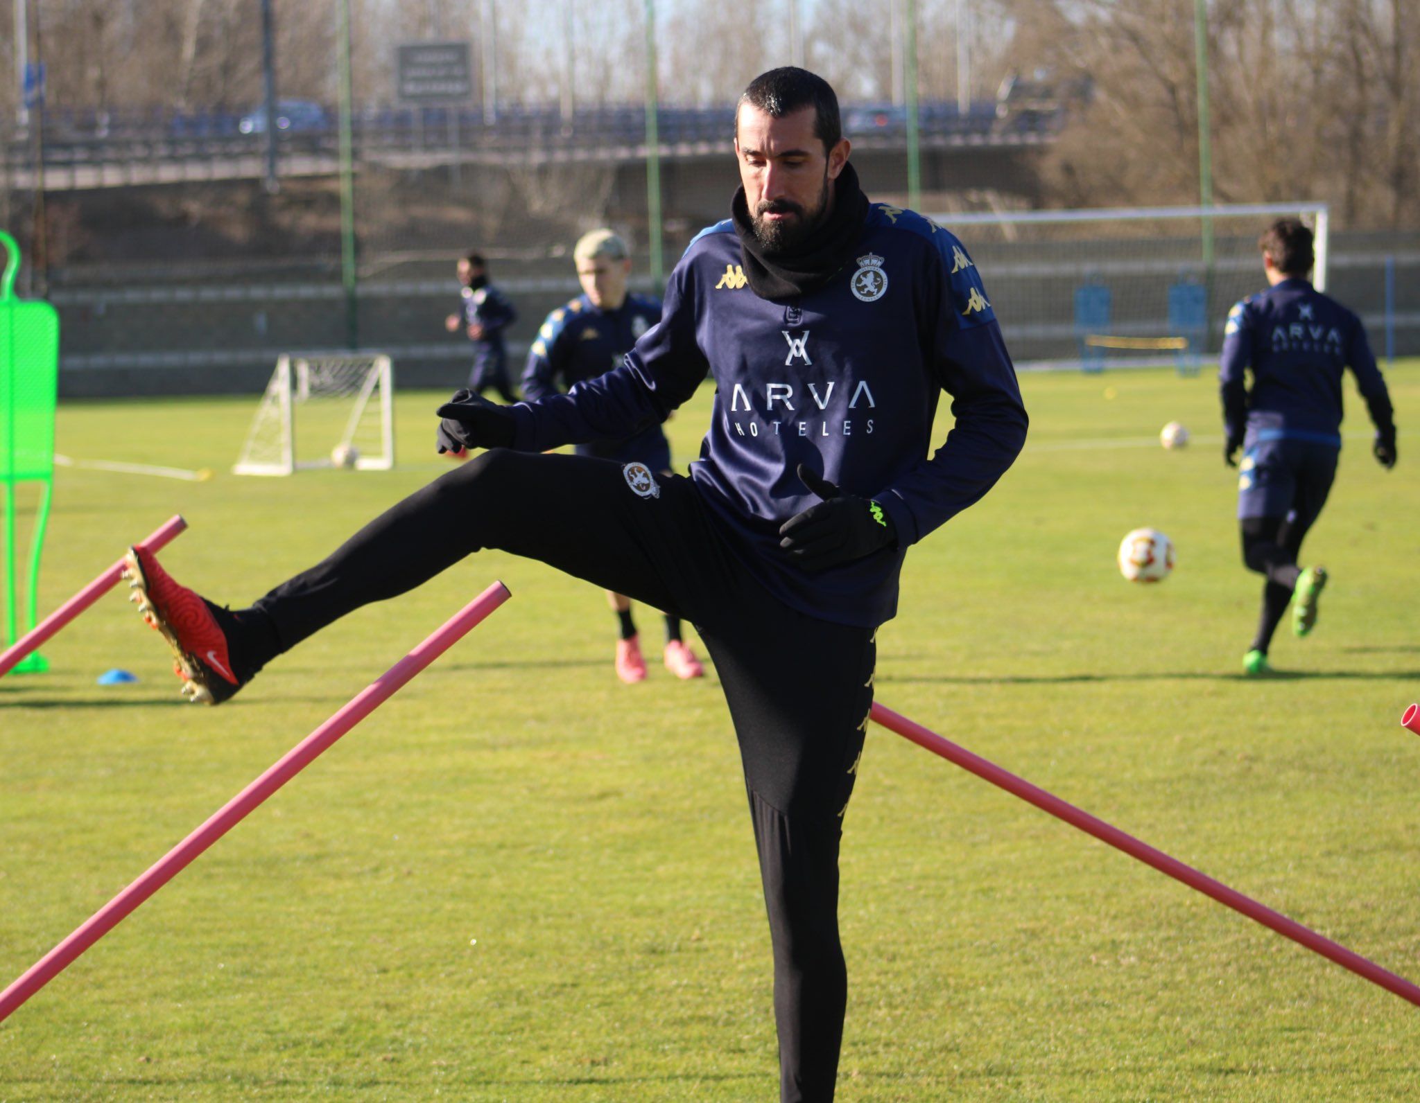
[[[933,214],[981,265],[1022,369],[1174,366],[1221,346],[1228,308],[1267,287],[1257,238],[1296,216],[1316,238],[1326,290],[1325,203]]]

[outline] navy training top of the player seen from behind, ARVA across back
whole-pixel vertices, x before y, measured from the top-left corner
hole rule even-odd
[[[1287,278],[1228,311],[1223,329],[1223,420],[1230,437],[1340,446],[1346,368],[1377,429],[1392,424],[1390,395],[1360,318],[1306,280]],[[1244,371],[1252,369],[1252,389]]]

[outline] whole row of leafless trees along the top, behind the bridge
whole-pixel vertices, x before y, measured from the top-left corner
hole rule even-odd
[[[278,94],[331,104],[337,4],[273,0]],[[26,0],[51,108],[246,108],[261,97],[257,0]],[[356,105],[389,104],[395,47],[466,40],[483,58],[483,0],[348,0]],[[657,0],[667,105],[728,104],[790,60],[790,0]],[[1186,0],[916,0],[919,92],[954,99],[958,14],[971,13],[971,91],[1018,72],[1058,89],[1068,125],[1042,158],[1052,206],[1194,202],[1198,101]],[[635,105],[643,0],[497,6],[503,104]],[[897,13],[896,17],[893,13]],[[845,102],[886,101],[902,72],[906,0],[799,0],[807,64]],[[13,4],[0,41],[13,44]],[[1218,202],[1329,200],[1339,226],[1420,223],[1420,0],[1208,0],[1213,190]],[[0,133],[14,119],[0,51]],[[470,106],[479,102],[476,91]]]

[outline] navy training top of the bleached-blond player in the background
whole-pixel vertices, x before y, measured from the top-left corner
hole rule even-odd
[[[545,399],[621,366],[636,341],[659,321],[660,300],[650,295],[629,294],[613,311],[592,305],[586,295],[558,307],[547,315],[528,349],[523,369],[524,400]],[[577,450],[584,456],[616,459],[649,454],[665,446],[666,434],[657,422],[630,437],[594,440],[578,444]]]

